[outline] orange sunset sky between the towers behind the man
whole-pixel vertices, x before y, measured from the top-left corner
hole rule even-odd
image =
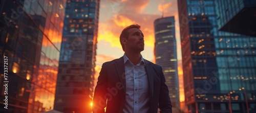
[[[95,83],[102,63],[119,58],[124,54],[119,42],[119,36],[126,26],[132,24],[141,26],[145,40],[145,49],[141,54],[143,58],[154,62],[154,20],[161,18],[162,13],[164,17],[175,16],[180,101],[184,101],[177,0],[100,1]]]

